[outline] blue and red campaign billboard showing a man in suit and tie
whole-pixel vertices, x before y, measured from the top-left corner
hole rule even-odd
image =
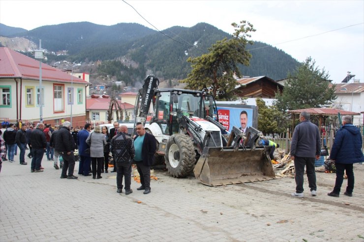
[[[258,128],[258,108],[251,105],[217,104],[219,122],[231,132],[233,126]],[[242,119],[241,119],[242,117]]]

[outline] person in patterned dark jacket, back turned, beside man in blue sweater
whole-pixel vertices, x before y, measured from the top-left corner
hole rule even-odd
[[[133,140],[127,134],[128,128],[121,125],[119,133],[111,140],[112,152],[115,154],[117,192],[122,192],[122,177],[125,178],[125,194],[133,192],[131,184],[131,159],[134,158]]]

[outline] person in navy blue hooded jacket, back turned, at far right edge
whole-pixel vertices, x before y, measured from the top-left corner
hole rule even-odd
[[[342,127],[336,133],[330,154],[330,159],[335,162],[336,166],[336,181],[334,190],[328,193],[329,196],[339,197],[340,188],[344,179],[344,170],[348,177],[348,186],[344,195],[349,197],[353,196],[353,164],[364,161],[362,145],[363,140],[360,129],[352,124],[351,116],[344,116],[342,119]]]

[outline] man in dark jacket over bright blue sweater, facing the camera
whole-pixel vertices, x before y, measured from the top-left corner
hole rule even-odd
[[[156,140],[152,134],[148,134],[142,124],[136,126],[137,136],[134,138],[134,161],[140,174],[142,186],[137,190],[144,190],[144,194],[151,192],[151,165],[154,162]]]

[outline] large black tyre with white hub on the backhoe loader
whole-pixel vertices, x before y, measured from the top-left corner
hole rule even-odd
[[[192,139],[185,134],[173,134],[167,141],[164,158],[171,176],[182,178],[189,175],[196,163]]]

